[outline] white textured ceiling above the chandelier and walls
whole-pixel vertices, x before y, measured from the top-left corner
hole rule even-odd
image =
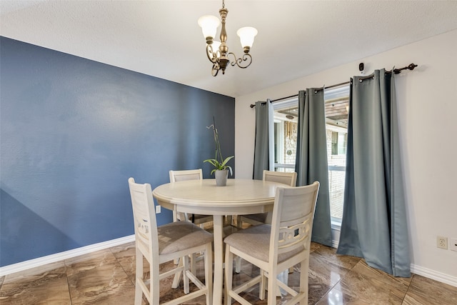
[[[213,77],[197,19],[220,8],[219,0],[0,0],[0,35],[236,97],[457,29],[457,1],[226,0],[230,51],[241,56],[238,28],[258,35],[251,66]]]

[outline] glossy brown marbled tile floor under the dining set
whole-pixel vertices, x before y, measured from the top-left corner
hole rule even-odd
[[[418,275],[395,278],[327,246],[312,244],[311,250],[309,304],[457,304],[457,287]],[[129,243],[3,276],[0,304],[134,304],[134,253]],[[201,276],[202,264],[198,268]],[[243,262],[234,282],[256,274],[258,269]],[[289,286],[298,286],[298,274],[296,266],[288,275]],[[162,300],[182,294],[181,289],[171,289],[171,280],[161,281]],[[256,288],[246,294],[254,304],[266,304],[257,296]],[[277,304],[285,300],[276,299]],[[201,298],[187,304],[204,303]]]

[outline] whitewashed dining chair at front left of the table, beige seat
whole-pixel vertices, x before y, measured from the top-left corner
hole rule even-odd
[[[176,221],[157,226],[151,184],[136,184],[129,178],[131,205],[134,211],[136,275],[135,305],[140,305],[143,294],[149,304],[182,304],[185,301],[206,295],[206,304],[212,302],[212,249],[213,235],[190,221]],[[204,253],[204,284],[191,273],[189,255]],[[176,268],[160,273],[160,265],[184,257],[184,263]],[[145,279],[143,259],[149,262],[149,279]],[[183,273],[184,296],[159,303],[160,280]],[[189,280],[198,290],[189,291]]]

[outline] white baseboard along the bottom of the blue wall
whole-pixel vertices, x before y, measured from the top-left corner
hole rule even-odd
[[[131,241],[135,241],[135,235],[125,236],[119,239],[111,239],[111,241],[104,241],[98,244],[91,244],[89,246],[83,246],[81,248],[76,248],[69,251],[42,256],[37,259],[31,259],[29,261],[21,261],[17,264],[0,267],[0,276],[5,276],[7,274],[13,274],[15,272],[24,271],[26,269],[31,269],[38,266],[55,263],[56,261],[70,259],[71,257],[83,254],[89,254],[91,252],[111,248],[112,246],[119,246],[121,244],[126,244]]]

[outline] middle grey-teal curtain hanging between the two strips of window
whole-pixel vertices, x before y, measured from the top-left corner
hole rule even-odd
[[[331,246],[330,197],[326,115],[323,88],[298,92],[298,131],[295,171],[297,186],[319,181],[319,195],[314,212],[311,240]]]

